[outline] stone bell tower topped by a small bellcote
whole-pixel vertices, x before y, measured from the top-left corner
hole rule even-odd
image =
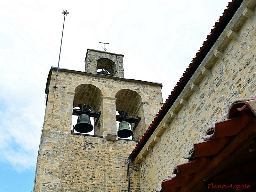
[[[163,100],[162,84],[124,78],[123,57],[88,49],[85,71],[60,68],[57,87],[51,68],[34,191],[128,190],[128,156]],[[94,134],[73,130],[72,117],[82,114],[94,118]],[[132,139],[117,137],[121,121]],[[140,191],[138,167],[130,167],[131,191]]]

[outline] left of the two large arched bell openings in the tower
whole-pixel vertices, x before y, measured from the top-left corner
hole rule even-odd
[[[81,84],[75,89],[75,96],[73,101],[73,115],[72,125],[76,125],[78,115],[86,114],[90,116],[93,130],[86,134],[101,135],[100,134],[100,111],[102,92],[99,88],[91,84]],[[74,130],[76,132],[76,130]]]

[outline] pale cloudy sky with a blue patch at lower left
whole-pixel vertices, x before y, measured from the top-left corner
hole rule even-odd
[[[231,1],[231,0],[230,0]],[[228,0],[0,1],[0,192],[33,190],[51,66],[84,71],[87,49],[124,54],[124,77],[163,84],[163,100]]]

